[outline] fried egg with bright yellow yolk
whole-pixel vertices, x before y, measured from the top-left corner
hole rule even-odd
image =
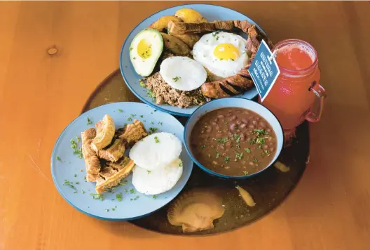
[[[247,40],[237,34],[205,34],[193,47],[193,57],[217,77],[231,77],[247,65]]]

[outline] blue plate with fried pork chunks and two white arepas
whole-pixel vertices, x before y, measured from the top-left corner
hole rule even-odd
[[[193,161],[184,126],[143,103],[110,103],[74,119],[60,134],[51,172],[79,211],[132,220],[160,209],[186,184]]]

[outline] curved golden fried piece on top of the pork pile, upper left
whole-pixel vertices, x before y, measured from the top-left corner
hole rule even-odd
[[[109,114],[104,115],[102,121],[98,121],[95,126],[97,128],[97,135],[93,139],[91,147],[97,152],[111,143],[114,133],[116,132],[116,126]]]

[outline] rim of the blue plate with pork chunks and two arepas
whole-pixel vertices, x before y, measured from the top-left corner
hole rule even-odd
[[[100,108],[100,107],[102,107],[102,106],[106,106],[106,105],[112,105],[112,104],[116,104],[116,103],[137,103],[137,104],[139,104],[139,105],[147,105],[146,103],[138,103],[138,102],[115,102],[115,103],[106,103],[106,104],[104,104],[104,105],[100,105],[100,106],[97,106],[97,107],[94,107],[94,108],[92,108],[92,109],[90,109],[90,110],[95,110],[95,109],[97,109],[97,108]],[[90,110],[86,110],[85,112],[88,112],[88,111],[90,111]],[[160,206],[158,209],[155,209],[155,210],[153,210],[153,211],[151,211],[151,212],[149,212],[149,213],[145,213],[145,214],[143,214],[143,215],[141,215],[141,216],[135,216],[135,217],[130,217],[130,218],[109,218],[109,217],[102,217],[102,216],[97,216],[97,215],[95,215],[95,214],[93,214],[93,213],[88,213],[87,211],[83,211],[82,209],[79,209],[77,206],[75,206],[74,204],[72,204],[71,202],[69,202],[69,199],[67,199],[67,197],[65,197],[64,196],[64,194],[63,194],[63,192],[62,192],[62,190],[60,190],[60,187],[59,187],[59,185],[57,184],[57,180],[55,180],[55,171],[53,171],[54,169],[55,169],[55,166],[54,166],[54,164],[53,164],[53,159],[55,158],[55,154],[56,154],[56,152],[55,152],[55,145],[57,145],[57,143],[58,143],[58,141],[60,140],[60,138],[61,138],[61,136],[62,136],[62,134],[64,133],[64,131],[66,131],[68,128],[69,128],[69,126],[71,126],[71,124],[76,120],[76,119],[78,119],[78,117],[81,117],[81,115],[82,114],[85,114],[85,112],[81,112],[81,114],[78,114],[78,116],[77,117],[75,117],[72,121],[70,121],[69,122],[69,124],[62,130],[62,132],[59,134],[59,136],[57,137],[57,140],[55,140],[55,143],[54,143],[54,146],[53,146],[53,151],[51,152],[51,157],[50,157],[50,173],[51,173],[51,177],[52,177],[52,179],[53,179],[53,183],[54,183],[54,186],[56,187],[56,189],[57,189],[57,192],[59,192],[59,194],[63,197],[63,199],[68,203],[68,204],[70,204],[74,209],[76,209],[76,210],[78,210],[78,211],[80,211],[80,212],[82,212],[82,213],[85,213],[86,215],[88,215],[88,216],[91,216],[91,217],[93,217],[93,218],[98,218],[98,219],[101,219],[101,220],[104,220],[104,221],[132,221],[132,220],[137,220],[137,219],[139,219],[139,218],[143,218],[143,217],[145,217],[145,216],[149,216],[149,215],[151,215],[151,213],[154,213],[155,211],[158,211],[159,209],[162,209],[163,208],[163,206],[167,206],[167,204],[169,204],[173,199],[175,199],[178,195],[179,195],[179,193],[182,191],[182,190],[184,190],[184,187],[186,186],[186,184],[188,183],[188,181],[189,181],[189,178],[191,177],[191,173],[193,172],[193,167],[194,167],[194,162],[193,162],[193,159],[191,159],[191,157],[189,156],[189,154],[188,154],[188,152],[186,151],[186,155],[188,155],[188,157],[189,157],[189,159],[190,159],[190,161],[191,161],[191,169],[190,169],[190,174],[189,174],[189,178],[187,178],[187,180],[186,180],[186,182],[185,182],[185,184],[184,184],[184,187],[182,187],[181,188],[181,190],[179,191],[179,193],[176,195],[176,196],[174,196],[172,199],[168,199],[168,202],[166,203],[166,204],[164,204],[163,206]],[[161,111],[162,112],[162,111]],[[163,112],[163,113],[165,113],[166,115],[170,115],[171,117],[173,117],[172,116],[172,114],[169,114],[169,113],[167,113],[167,112]],[[184,127],[184,125],[183,124],[181,124],[181,122],[176,118],[176,117],[173,117],[183,128],[184,128],[184,130],[185,130],[185,127]],[[181,135],[182,136],[182,135]],[[185,147],[185,146],[184,146]]]

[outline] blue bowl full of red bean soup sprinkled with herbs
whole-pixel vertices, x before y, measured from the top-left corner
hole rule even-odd
[[[263,105],[245,98],[220,98],[191,114],[184,142],[200,169],[240,179],[261,173],[278,159],[284,133]]]

